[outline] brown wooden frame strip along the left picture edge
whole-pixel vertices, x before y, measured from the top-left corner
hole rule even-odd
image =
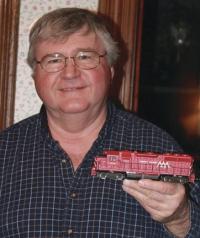
[[[0,1],[0,130],[14,121],[20,0]]]

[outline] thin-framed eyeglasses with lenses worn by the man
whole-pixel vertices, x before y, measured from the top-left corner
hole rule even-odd
[[[65,57],[60,53],[53,53],[44,56],[41,61],[37,61],[41,68],[48,73],[59,72],[64,69],[69,59],[73,61],[73,64],[81,69],[94,69],[100,63],[100,58],[104,57],[106,52],[102,55],[96,51],[80,51],[75,56]]]

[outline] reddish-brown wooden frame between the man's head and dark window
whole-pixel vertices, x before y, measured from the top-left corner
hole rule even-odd
[[[144,0],[99,0],[98,6],[113,21],[112,34],[122,49],[111,95],[131,111],[138,108],[143,5]]]

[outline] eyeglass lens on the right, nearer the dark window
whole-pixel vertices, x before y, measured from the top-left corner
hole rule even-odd
[[[74,57],[74,61],[82,69],[93,69],[99,64],[99,55],[94,51],[81,51]]]

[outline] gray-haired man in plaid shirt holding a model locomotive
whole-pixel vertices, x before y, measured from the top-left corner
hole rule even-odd
[[[0,237],[199,237],[199,184],[91,176],[104,150],[181,152],[108,100],[118,49],[88,10],[58,9],[30,32],[39,114],[0,134]]]

